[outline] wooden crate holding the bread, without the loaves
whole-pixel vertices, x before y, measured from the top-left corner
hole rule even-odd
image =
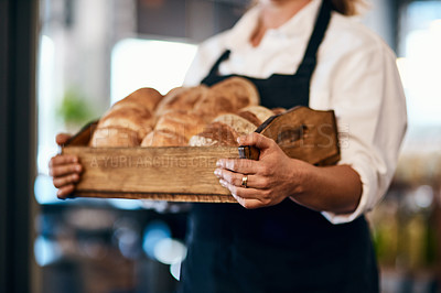
[[[85,127],[62,153],[84,166],[75,197],[137,198],[171,202],[236,203],[214,175],[222,158],[258,160],[248,146],[89,148],[96,123]],[[273,116],[257,130],[290,158],[315,165],[340,160],[334,111],[295,107]]]

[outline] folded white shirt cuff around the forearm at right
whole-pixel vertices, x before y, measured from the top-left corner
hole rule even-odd
[[[338,165],[349,165],[355,172],[358,173],[359,178],[362,181],[363,193],[359,198],[359,203],[355,211],[351,214],[335,214],[332,211],[322,211],[323,217],[325,217],[329,221],[334,225],[345,224],[355,220],[364,213],[369,211],[376,200],[376,186],[377,180],[375,171],[369,166],[369,164],[363,160],[352,161],[352,162],[338,162]]]

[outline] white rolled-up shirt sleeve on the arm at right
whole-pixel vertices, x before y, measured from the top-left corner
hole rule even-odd
[[[391,182],[407,127],[406,98],[395,54],[385,45],[354,50],[334,67],[330,107],[335,110],[342,159],[362,181],[363,193],[352,214],[322,211],[333,224],[369,211]]]

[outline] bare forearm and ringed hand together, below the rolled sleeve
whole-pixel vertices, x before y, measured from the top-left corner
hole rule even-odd
[[[353,213],[363,185],[349,165],[313,166],[288,158],[273,140],[250,133],[238,140],[241,145],[260,149],[259,161],[217,161],[215,174],[236,200],[246,208],[277,205],[286,197],[314,210]],[[248,176],[247,186],[241,186]]]

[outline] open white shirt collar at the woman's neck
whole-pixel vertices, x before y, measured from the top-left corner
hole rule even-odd
[[[280,37],[293,37],[310,35],[315,23],[322,0],[311,0],[302,10],[278,29],[271,29],[267,33]],[[226,35],[226,48],[236,51],[250,46],[249,40],[259,20],[260,8],[251,8],[241,19],[228,31]]]

